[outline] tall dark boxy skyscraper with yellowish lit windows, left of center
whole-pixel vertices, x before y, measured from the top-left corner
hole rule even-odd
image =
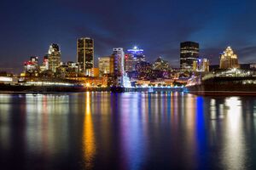
[[[77,62],[80,65],[80,71],[86,76],[94,67],[94,41],[90,37],[81,37],[77,41]]]

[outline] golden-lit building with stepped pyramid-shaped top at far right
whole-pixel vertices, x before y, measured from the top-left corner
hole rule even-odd
[[[227,47],[223,53],[220,54],[219,68],[220,69],[231,69],[239,68],[237,55],[234,54],[232,48]]]

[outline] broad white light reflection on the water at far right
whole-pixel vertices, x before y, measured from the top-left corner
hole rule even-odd
[[[243,128],[243,117],[241,111],[241,99],[231,97],[224,100],[224,152],[223,160],[227,169],[242,169],[245,167],[247,158]]]

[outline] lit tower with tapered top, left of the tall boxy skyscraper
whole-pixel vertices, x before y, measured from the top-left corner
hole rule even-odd
[[[58,44],[52,43],[48,51],[49,70],[55,72],[61,65],[61,50]]]

